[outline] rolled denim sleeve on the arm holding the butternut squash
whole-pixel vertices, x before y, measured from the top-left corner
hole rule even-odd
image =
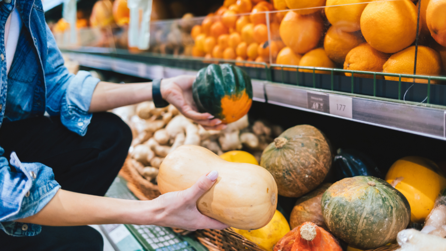
[[[0,229],[8,235],[32,236],[41,226],[14,220],[37,214],[57,193],[60,185],[53,171],[40,163],[21,163],[15,152],[9,164],[0,147]]]

